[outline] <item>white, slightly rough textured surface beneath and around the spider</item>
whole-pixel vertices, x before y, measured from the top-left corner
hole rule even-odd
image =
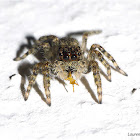
[[[26,36],[101,29],[88,40],[101,44],[127,72],[112,70],[112,82],[102,76],[103,104],[91,98],[85,86],[51,81],[52,106],[32,89],[27,102],[20,90],[22,63],[14,62]],[[139,0],[0,0],[0,139],[139,139],[140,133],[140,1]],[[81,37],[77,37],[81,41]],[[24,49],[26,52],[27,49]],[[16,74],[9,79],[9,76]],[[96,94],[92,73],[86,76]],[[42,76],[37,78],[44,93]],[[27,86],[28,80],[25,86]],[[131,94],[133,88],[137,88]]]

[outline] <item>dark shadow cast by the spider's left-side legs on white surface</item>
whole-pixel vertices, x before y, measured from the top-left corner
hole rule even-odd
[[[32,44],[36,41],[36,38],[32,35],[28,35],[26,36],[26,39],[27,39],[27,44],[21,44],[20,47],[19,47],[19,50],[17,51],[16,53],[16,57],[19,57],[24,49],[31,49],[32,48]],[[41,54],[41,52],[37,52],[36,54],[34,54],[34,56],[39,60],[39,61],[43,61],[43,56]],[[31,70],[33,68],[33,66],[35,65],[34,64],[31,64],[29,63],[28,61],[26,62],[22,62],[21,64],[19,64],[18,66],[18,73],[21,75],[21,83],[20,83],[20,90],[21,90],[21,93],[22,93],[22,96],[24,98],[24,95],[25,95],[25,83],[26,83],[26,79],[28,79],[28,81],[30,80],[30,75],[32,74],[31,73]],[[65,85],[66,83],[61,80],[60,78],[56,77],[55,78],[60,84],[62,84],[65,88],[65,90],[67,91]],[[44,97],[44,94],[42,93],[42,91],[39,89],[39,86],[37,84],[37,82],[35,82],[35,84],[33,85],[33,88],[35,89],[35,91],[38,93],[38,95],[41,97],[41,99],[46,103],[46,99]]]

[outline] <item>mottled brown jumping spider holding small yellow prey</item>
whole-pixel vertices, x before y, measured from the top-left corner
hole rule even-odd
[[[87,37],[92,34],[99,34],[100,32],[100,30],[84,32],[81,47],[75,38],[64,37],[59,39],[54,35],[42,36],[39,40],[35,41],[33,47],[29,49],[27,53],[21,57],[15,58],[14,60],[18,61],[24,59],[29,54],[35,54],[39,50],[43,50],[44,61],[34,65],[33,74],[30,77],[29,85],[24,95],[25,100],[28,99],[30,90],[35,83],[38,73],[43,74],[46,103],[51,105],[50,79],[53,76],[70,81],[74,90],[74,84],[77,85],[76,80],[80,79],[82,74],[87,74],[92,71],[97,86],[98,102],[101,104],[101,72],[96,59],[98,59],[107,69],[107,79],[109,81],[111,81],[111,66],[104,59],[103,55],[112,61],[118,72],[125,76],[127,76],[127,74],[120,69],[114,58],[98,44],[93,44],[91,46],[90,50],[88,50],[87,57],[84,55],[86,52]]]

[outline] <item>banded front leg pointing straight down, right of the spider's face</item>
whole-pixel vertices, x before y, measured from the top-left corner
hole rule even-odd
[[[94,81],[97,86],[98,102],[99,104],[101,104],[102,103],[102,84],[101,84],[99,66],[96,61],[91,61],[91,69],[93,71]]]

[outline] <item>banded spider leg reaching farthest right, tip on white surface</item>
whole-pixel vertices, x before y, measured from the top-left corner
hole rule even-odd
[[[100,45],[98,44],[93,44],[91,46],[91,50],[95,50],[96,48],[98,48],[110,61],[112,61],[113,65],[115,66],[116,70],[125,75],[125,76],[128,76],[117,64],[117,62],[115,61],[115,59]]]

